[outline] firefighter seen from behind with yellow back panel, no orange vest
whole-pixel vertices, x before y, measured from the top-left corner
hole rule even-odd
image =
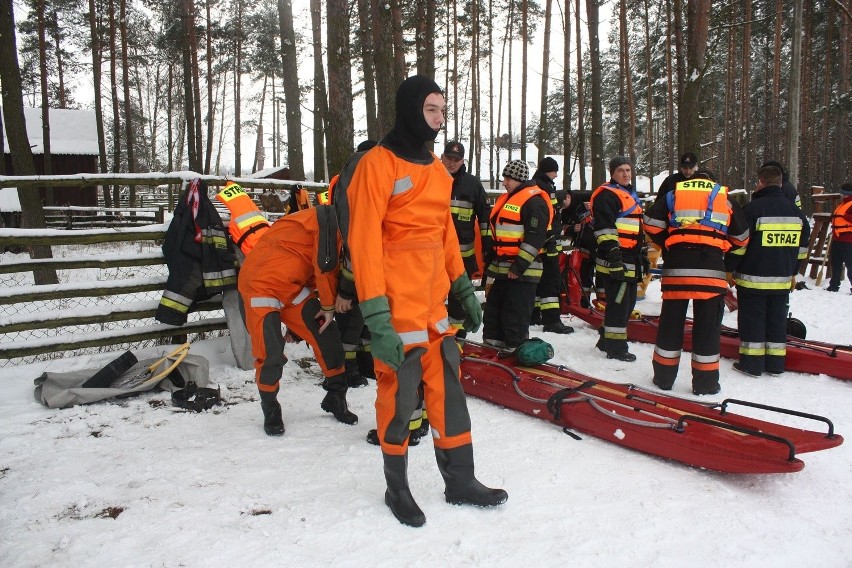
[[[781,189],[781,170],[766,166],[757,177],[757,190],[743,207],[751,238],[731,255],[740,305],[734,369],[753,377],[784,372],[790,280],[807,258],[811,234],[807,218]]]

